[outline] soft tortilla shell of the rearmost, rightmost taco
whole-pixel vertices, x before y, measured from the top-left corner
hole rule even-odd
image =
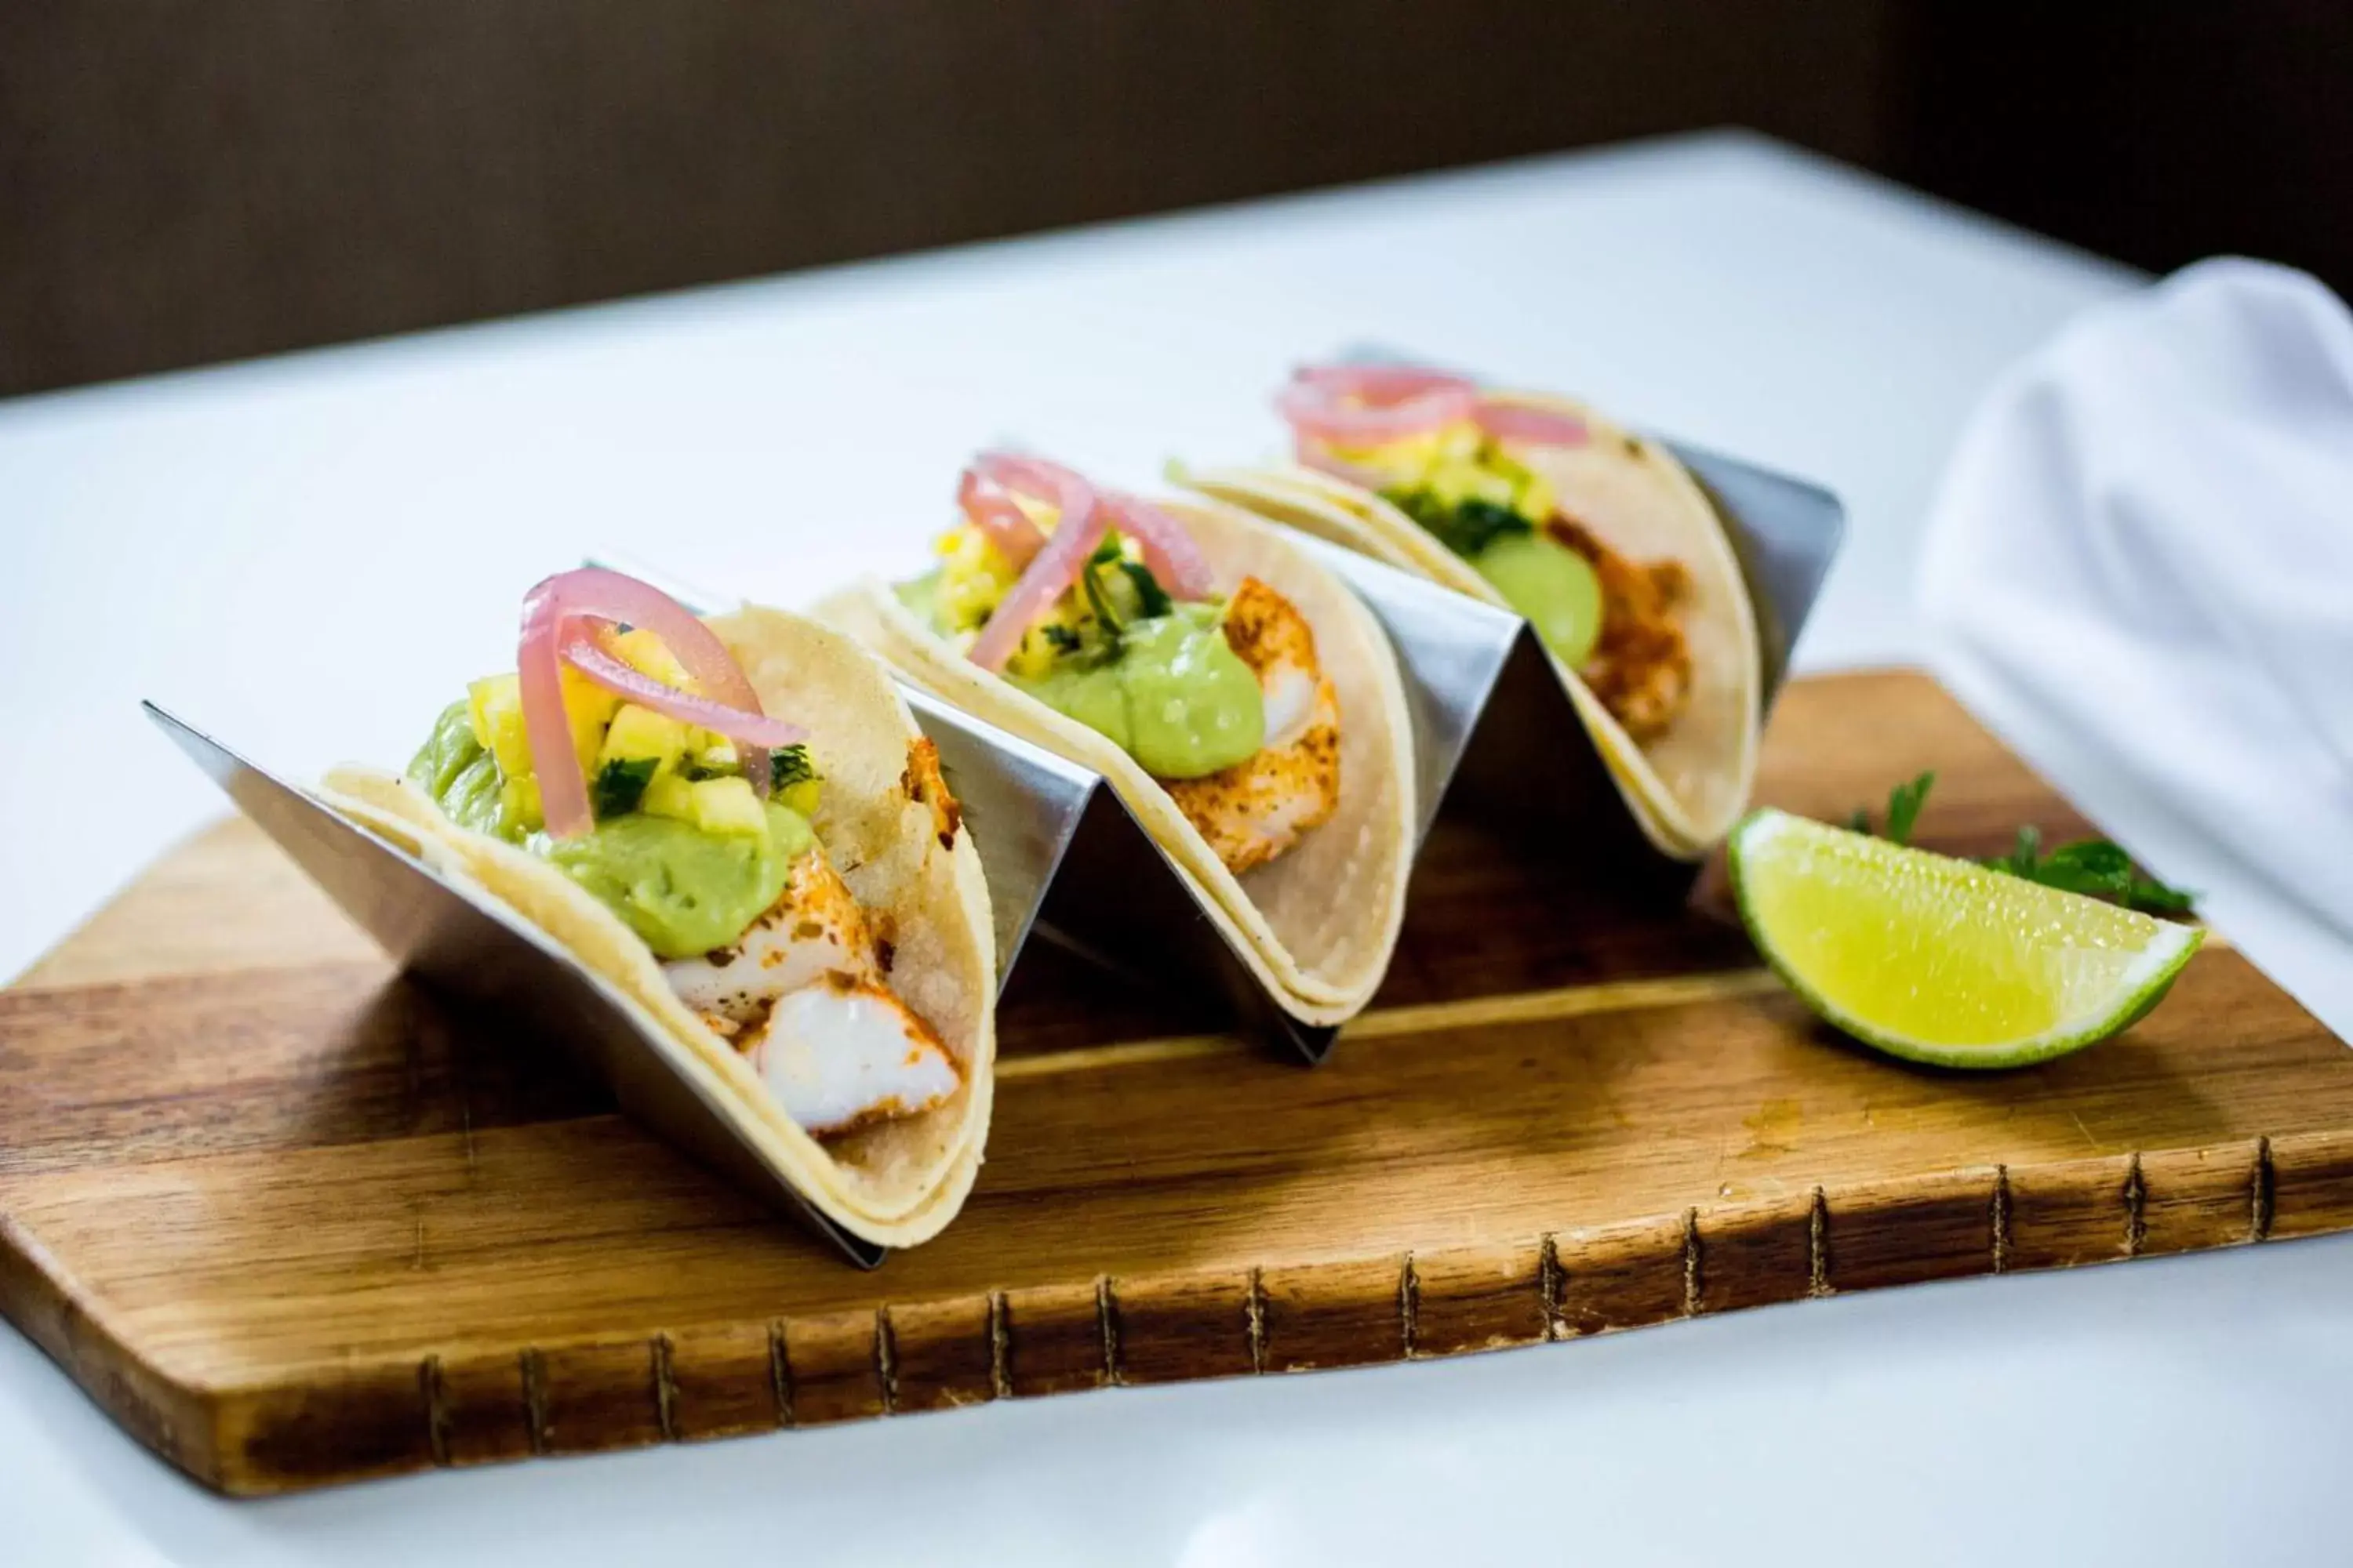
[[[1581,418],[1591,433],[1584,447],[1515,447],[1513,456],[1539,470],[1562,510],[1612,550],[1633,559],[1673,557],[1689,571],[1682,630],[1692,649],[1692,698],[1664,736],[1638,745],[1577,670],[1558,658],[1553,670],[1642,832],[1661,851],[1697,860],[1748,804],[1762,705],[1755,607],[1722,520],[1659,442],[1621,430],[1569,397],[1487,395]],[[1191,470],[1179,473],[1179,482],[1508,609],[1471,562],[1421,524],[1332,475],[1275,465]]]

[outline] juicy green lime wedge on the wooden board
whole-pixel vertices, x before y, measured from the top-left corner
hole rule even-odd
[[[2106,1039],[2205,938],[1786,811],[1732,830],[1732,886],[1751,940],[1807,1006],[1941,1067],[2024,1067]]]

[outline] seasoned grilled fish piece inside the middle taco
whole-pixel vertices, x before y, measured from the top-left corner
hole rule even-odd
[[[1247,762],[1162,788],[1226,870],[1285,853],[1339,809],[1339,698],[1315,663],[1306,616],[1259,578],[1226,602],[1226,646],[1259,677],[1266,743]]]

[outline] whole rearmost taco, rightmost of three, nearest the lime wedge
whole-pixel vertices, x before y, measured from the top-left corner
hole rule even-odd
[[[1635,823],[1699,858],[1755,778],[1755,607],[1659,442],[1565,397],[1402,367],[1301,369],[1297,463],[1179,482],[1518,611]]]

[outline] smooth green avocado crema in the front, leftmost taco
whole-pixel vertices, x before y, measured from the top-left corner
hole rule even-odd
[[[520,844],[562,870],[664,959],[732,947],[816,842],[809,820],[774,799],[765,837],[704,832],[640,811],[609,816],[576,839],[525,832],[499,804],[499,762],[473,738],[466,703],[452,703],[433,724],[409,780],[459,827]]]

